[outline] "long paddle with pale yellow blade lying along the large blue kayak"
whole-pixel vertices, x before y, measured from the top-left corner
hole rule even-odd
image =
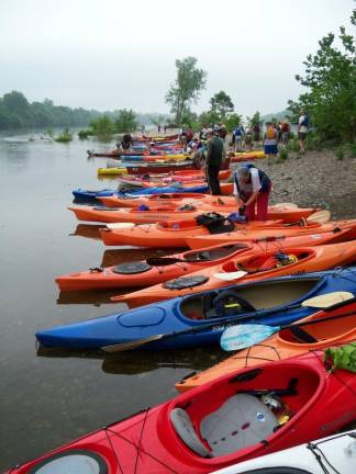
[[[304,300],[302,303],[298,303],[298,304],[282,307],[279,309],[270,309],[270,311],[265,309],[265,311],[256,312],[256,313],[254,313],[254,318],[258,317],[259,314],[267,316],[269,314],[275,314],[278,312],[286,311],[286,309],[296,309],[296,308],[299,308],[300,306],[325,308],[329,306],[333,306],[334,304],[340,303],[341,301],[344,301],[344,300],[342,300],[341,294],[344,295],[344,300],[346,298],[346,296],[354,297],[354,295],[352,293],[347,293],[347,292],[327,293],[325,295],[314,296],[312,298]],[[252,317],[251,314],[247,314],[247,315],[243,315],[243,316],[232,316],[232,317],[229,317],[224,320],[216,318],[218,320],[198,326],[196,328],[188,328],[188,329],[182,329],[180,331],[154,335],[154,336],[149,336],[149,337],[144,338],[144,339],[134,340],[131,342],[124,342],[124,343],[112,345],[112,346],[104,346],[101,349],[105,352],[121,352],[121,351],[125,351],[125,350],[137,349],[141,346],[144,346],[148,342],[153,342],[156,340],[162,340],[162,339],[166,339],[166,338],[174,337],[174,336],[182,336],[186,334],[200,332],[200,331],[203,331],[205,329],[210,329],[211,327],[214,327],[214,326],[221,326],[221,325],[226,325],[226,324],[234,323],[234,321],[246,320],[246,319],[251,319],[251,317]]]

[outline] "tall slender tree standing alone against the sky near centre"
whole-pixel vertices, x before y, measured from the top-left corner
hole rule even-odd
[[[197,68],[197,63],[198,59],[192,56],[176,59],[177,78],[166,94],[166,102],[170,104],[170,111],[179,125],[182,116],[190,112],[191,102],[196,103],[205,88],[207,72]]]

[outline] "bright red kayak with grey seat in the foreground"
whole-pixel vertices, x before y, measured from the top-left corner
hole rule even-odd
[[[356,418],[354,373],[322,352],[243,369],[145,408],[11,474],[210,473],[332,435]]]

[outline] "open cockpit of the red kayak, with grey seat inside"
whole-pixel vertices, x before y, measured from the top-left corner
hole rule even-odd
[[[202,458],[236,455],[280,436],[314,399],[320,375],[305,366],[276,364],[213,382],[214,397],[194,394],[171,406],[169,422],[182,445]],[[219,386],[220,385],[220,386]]]

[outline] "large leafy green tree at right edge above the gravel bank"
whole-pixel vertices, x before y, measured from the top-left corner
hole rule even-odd
[[[356,24],[356,11],[352,23]],[[298,101],[289,101],[292,121],[305,109],[321,140],[356,139],[356,47],[352,35],[340,29],[340,46],[329,33],[319,42],[319,49],[303,63],[305,71],[296,79],[308,90]]]

